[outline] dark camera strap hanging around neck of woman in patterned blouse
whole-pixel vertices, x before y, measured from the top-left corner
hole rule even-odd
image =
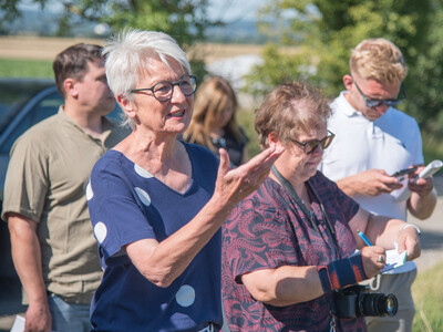
[[[308,210],[308,208],[306,207],[305,203],[301,200],[301,198],[297,195],[296,190],[293,189],[292,185],[280,174],[280,172],[278,172],[276,165],[272,165],[271,167],[271,172],[272,174],[277,177],[277,179],[280,181],[280,184],[288,190],[289,195],[292,197],[292,199],[296,201],[296,204],[300,207],[300,209],[303,211],[305,216],[308,218],[308,220],[310,221],[312,228],[319,234],[321,235],[316,220],[313,219],[313,216],[311,215],[311,212]],[[306,181],[309,189],[312,191],[313,196],[316,197],[320,209],[321,209],[321,215],[323,216],[323,220],[326,221],[326,229],[328,232],[328,237],[332,239],[332,245],[333,247],[331,248],[334,251],[334,256],[339,255],[339,246],[337,242],[337,238],[336,238],[336,230],[332,227],[331,221],[328,218],[328,215],[326,214],[323,204],[320,200],[320,197],[317,195],[317,191],[313,189],[313,187],[311,186],[311,184],[309,183],[309,180]]]

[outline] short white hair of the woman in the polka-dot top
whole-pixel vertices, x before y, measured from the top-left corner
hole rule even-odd
[[[123,95],[130,101],[131,90],[148,72],[152,59],[158,59],[168,68],[171,60],[175,60],[187,74],[192,74],[189,62],[178,43],[158,31],[123,30],[105,42],[103,55],[111,91],[115,97]]]

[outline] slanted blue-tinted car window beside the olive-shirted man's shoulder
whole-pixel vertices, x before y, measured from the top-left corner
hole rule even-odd
[[[55,114],[62,103],[63,100],[56,92],[40,101],[32,110],[30,110],[27,116],[24,116],[24,118],[13,129],[12,134],[9,135],[4,143],[0,146],[0,153],[8,154],[12,147],[12,144],[21,134],[23,134],[29,127],[38,122]]]

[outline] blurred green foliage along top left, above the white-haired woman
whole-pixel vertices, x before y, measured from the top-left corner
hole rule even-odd
[[[0,0],[1,21],[11,21],[20,15],[20,4],[37,3],[42,9],[54,6],[54,0]],[[189,55],[194,73],[203,77],[206,73],[200,49],[195,45],[204,41],[208,27],[222,25],[207,15],[208,0],[60,0],[59,37],[70,37],[76,19],[104,23],[110,32],[125,28],[162,31],[172,35]]]

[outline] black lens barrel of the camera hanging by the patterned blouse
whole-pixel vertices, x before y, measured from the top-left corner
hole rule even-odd
[[[362,293],[358,307],[361,315],[393,317],[399,309],[399,302],[393,294]]]

